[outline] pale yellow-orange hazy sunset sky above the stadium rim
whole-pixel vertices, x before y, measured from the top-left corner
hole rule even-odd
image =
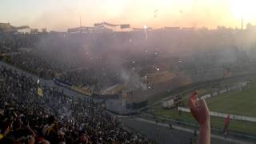
[[[1,0],[0,22],[66,30],[95,22],[150,26],[241,27],[256,23],[254,0]]]

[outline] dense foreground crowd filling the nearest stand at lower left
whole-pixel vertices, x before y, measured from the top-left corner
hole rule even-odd
[[[101,105],[69,98],[4,66],[0,95],[0,143],[152,143]]]

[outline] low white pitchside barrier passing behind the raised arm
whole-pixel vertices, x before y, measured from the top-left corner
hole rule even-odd
[[[186,107],[178,107],[178,110],[190,113],[190,109],[188,109]],[[210,116],[226,118],[228,115],[230,115],[230,119],[249,121],[249,122],[256,122],[256,118],[253,118],[253,117],[246,117],[246,116],[242,116],[242,115],[233,115],[233,114],[223,114],[223,113],[218,113],[218,112],[210,111]]]

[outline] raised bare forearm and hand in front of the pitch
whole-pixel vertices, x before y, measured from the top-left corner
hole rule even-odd
[[[198,144],[210,144],[210,114],[206,101],[204,99],[197,100],[197,93],[194,92],[190,96],[189,106],[192,115],[198,121],[200,126]]]

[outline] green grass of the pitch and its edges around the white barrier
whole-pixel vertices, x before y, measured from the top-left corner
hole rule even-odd
[[[210,89],[201,90],[199,94],[207,94]],[[182,97],[185,106],[189,94]],[[225,114],[237,114],[256,118],[256,84],[251,83],[250,88],[244,90],[233,90],[226,94],[206,99],[206,102],[211,111],[221,112]],[[182,113],[179,116],[177,110],[165,110],[161,105],[154,106],[154,114],[165,116],[167,118],[177,119],[184,122],[196,123],[191,114]],[[222,129],[224,119],[211,117],[211,126]],[[256,122],[245,122],[231,120],[230,130],[239,131],[246,134],[256,134]]]

